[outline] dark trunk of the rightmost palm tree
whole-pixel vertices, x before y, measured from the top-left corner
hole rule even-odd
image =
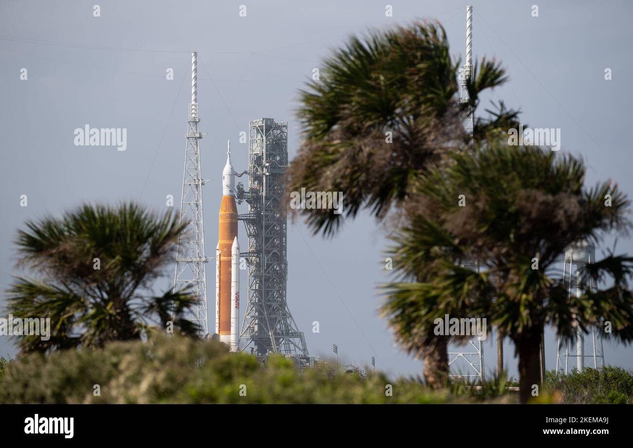
[[[541,331],[530,328],[523,332],[516,341],[518,352],[518,375],[520,401],[525,404],[532,398],[534,385],[541,389]]]

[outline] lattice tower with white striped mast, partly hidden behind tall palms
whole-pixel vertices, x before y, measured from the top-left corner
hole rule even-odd
[[[460,103],[463,104],[460,111],[460,120],[464,129],[470,135],[470,150],[473,151],[473,108],[470,104],[470,94],[468,94],[468,85],[472,76],[472,41],[473,41],[473,7],[466,7],[466,63],[461,66],[460,70]],[[479,272],[479,263],[477,260],[468,260],[461,264],[463,268],[470,268]],[[454,351],[451,351],[451,346]],[[449,376],[453,378],[474,379],[480,382],[484,381],[484,343],[474,336],[468,340],[466,347],[453,344],[448,345],[448,365],[449,368],[456,372]],[[464,351],[467,350],[467,351]]]

